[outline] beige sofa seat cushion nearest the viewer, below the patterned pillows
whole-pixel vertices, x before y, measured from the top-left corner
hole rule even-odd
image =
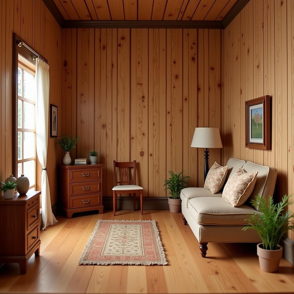
[[[189,200],[188,211],[201,225],[246,225],[256,210],[243,204],[233,207],[221,197],[200,197]]]

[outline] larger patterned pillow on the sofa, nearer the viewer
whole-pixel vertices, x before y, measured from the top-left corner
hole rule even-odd
[[[253,191],[257,174],[258,171],[246,173],[239,168],[225,184],[222,197],[234,207],[242,205]]]

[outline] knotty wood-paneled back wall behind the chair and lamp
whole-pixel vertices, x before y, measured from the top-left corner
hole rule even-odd
[[[99,151],[103,195],[111,196],[113,160],[138,163],[145,196],[166,196],[167,171],[203,185],[196,126],[220,128],[220,30],[62,30],[62,127],[81,136],[71,155]],[[199,159],[199,160],[198,160]],[[210,164],[220,161],[211,150]]]

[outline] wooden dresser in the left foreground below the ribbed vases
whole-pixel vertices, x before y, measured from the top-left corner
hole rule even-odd
[[[40,254],[40,194],[30,191],[19,196],[16,192],[13,199],[0,197],[0,263],[19,263],[22,274],[31,255]]]

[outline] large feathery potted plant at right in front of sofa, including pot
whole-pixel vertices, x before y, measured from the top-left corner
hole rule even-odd
[[[290,201],[292,195],[284,195],[282,200],[275,204],[273,197],[270,196],[268,201],[257,195],[251,203],[259,208],[260,213],[256,212],[248,220],[248,225],[242,230],[255,230],[262,240],[257,245],[257,255],[260,268],[269,273],[276,272],[279,268],[280,259],[282,258],[283,248],[279,245],[281,238],[288,230],[294,229],[294,213],[283,210],[288,205],[294,203]]]

